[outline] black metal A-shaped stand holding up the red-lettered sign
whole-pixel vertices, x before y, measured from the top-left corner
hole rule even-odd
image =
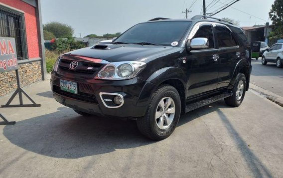
[[[24,91],[23,89],[20,88],[20,81],[19,81],[19,76],[18,76],[18,70],[16,71],[16,79],[17,79],[17,89],[9,99],[9,101],[5,104],[2,105],[2,108],[12,108],[12,107],[40,107],[41,104],[36,104]],[[23,104],[22,102],[22,93],[33,103],[33,104]],[[16,105],[10,105],[12,100],[15,98],[15,96],[18,94],[19,97],[19,104]],[[2,118],[2,117],[1,117]],[[3,119],[3,118],[2,118]]]

